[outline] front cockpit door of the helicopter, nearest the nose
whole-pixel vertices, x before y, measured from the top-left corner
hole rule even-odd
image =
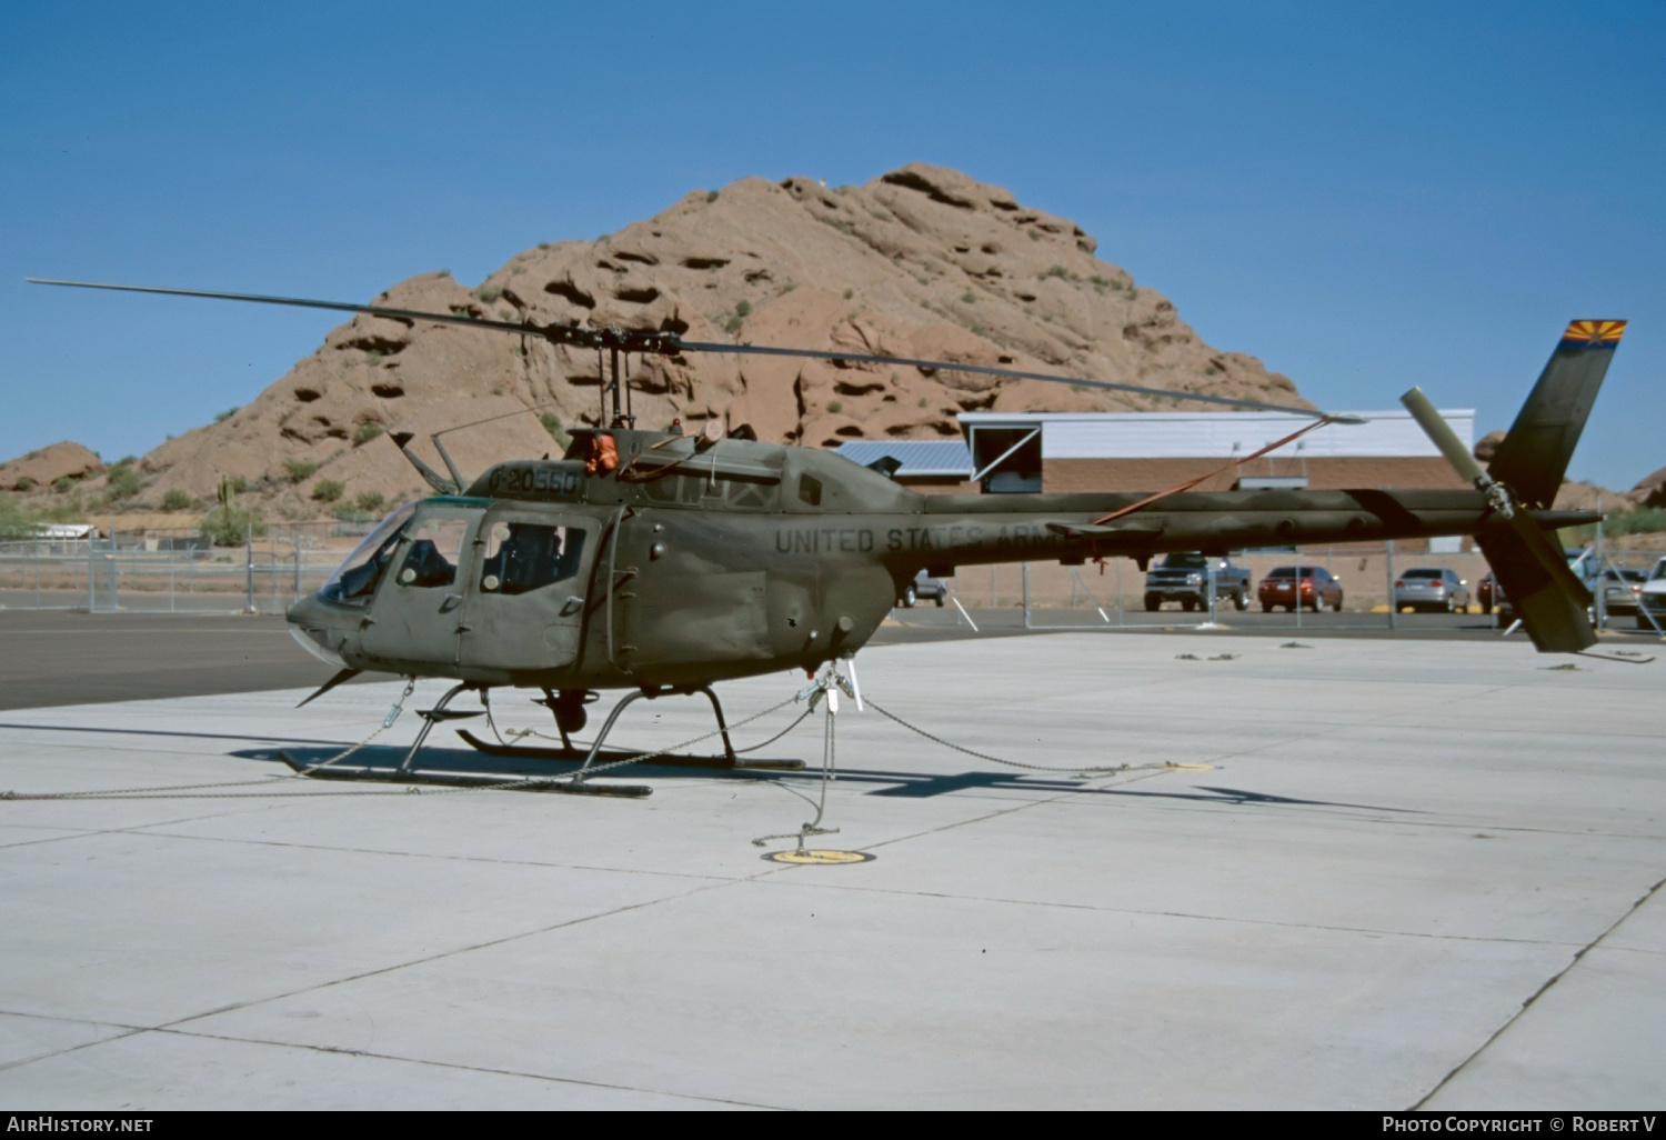
[[[480,508],[423,503],[393,552],[370,603],[362,647],[370,657],[398,662],[398,672],[445,675],[456,667],[463,620],[463,552]]]

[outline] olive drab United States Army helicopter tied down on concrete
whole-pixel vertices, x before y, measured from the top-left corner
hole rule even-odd
[[[1143,567],[1156,553],[1178,550],[1476,535],[1539,652],[1583,652],[1596,642],[1586,615],[1591,598],[1546,532],[1598,518],[1551,505],[1624,332],[1621,320],[1568,325],[1488,470],[1418,388],[1403,397],[1469,488],[1191,490],[1208,478],[1200,477],[1150,495],[921,495],[891,478],[895,460],[860,467],[831,452],[725,437],[720,425],[693,435],[638,428],[620,357],[626,357],[626,372],[631,353],[960,370],[1311,417],[1299,432],[1228,468],[1318,427],[1359,420],[1016,368],[688,342],[670,332],[182,288],[37,283],[438,322],[595,348],[598,367],[606,360],[598,427],[573,430],[561,458],[510,460],[468,478],[436,433],[431,442],[448,472],[441,475],[415,455],[412,435],[393,433],[435,495],[383,518],[322,590],[288,610],[297,640],[340,670],[313,697],[360,672],[456,682],[423,713],[402,765],[405,775],[413,775],[412,760],[435,723],[475,715],[448,712],[458,693],[475,690],[485,702],[498,687],[540,690],[563,748],[460,735],[495,755],[571,760],[578,752],[570,737],[585,727],[586,705],[601,690],[631,690],[596,735],[580,777],[563,782],[566,790],[581,790],[581,773],[620,713],[643,697],[705,695],[725,743],[726,755],[716,763],[736,765],[711,685],[790,668],[813,675],[850,658],[921,570],[950,577],[970,565],[1081,565],[1113,555]]]

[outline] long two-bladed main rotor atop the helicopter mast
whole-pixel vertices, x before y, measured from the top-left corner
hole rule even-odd
[[[630,347],[630,332],[593,330],[580,325],[533,325],[508,320],[491,320],[486,317],[461,317],[458,313],[430,313],[415,308],[387,308],[383,305],[353,305],[350,302],[312,300],[305,297],[265,297],[260,293],[222,293],[202,288],[165,288],[160,285],[107,285],[98,282],[60,282],[42,277],[25,278],[32,285],[67,285],[72,288],[108,288],[122,293],[162,293],[165,297],[208,297],[213,300],[253,302],[258,305],[290,305],[298,308],[327,308],[342,313],[368,313],[372,317],[388,317],[392,320],[433,320],[443,325],[463,328],[490,328],[493,332],[515,333],[518,337],[545,337],[560,343],[615,343]],[[1130,392],[1133,395],[1168,397],[1175,400],[1198,400],[1201,403],[1218,403],[1231,408],[1253,408],[1256,412],[1294,412],[1316,420],[1326,418],[1324,412],[1298,408],[1291,403],[1268,403],[1264,400],[1235,400],[1231,397],[1205,395],[1201,392],[1181,392],[1178,388],[1148,388],[1138,383],[1113,383],[1110,380],[1083,380],[1080,377],[1063,377],[1048,372],[1025,372],[1021,368],[995,368],[990,365],[956,363],[953,360],[916,360],[913,357],[875,357],[853,352],[826,352],[820,348],[773,348],[766,345],[730,345],[723,342],[678,340],[670,333],[638,333],[643,340],[635,352],[713,352],[751,357],[795,357],[801,360],[848,360],[855,363],[901,365],[905,368],[926,368],[933,372],[971,372],[983,377],[1005,377],[1010,380],[1040,380],[1043,383],[1070,383],[1083,388],[1100,388],[1103,392]],[[1359,417],[1333,415],[1333,423],[1364,423]]]

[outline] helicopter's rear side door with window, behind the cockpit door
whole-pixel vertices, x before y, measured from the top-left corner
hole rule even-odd
[[[595,523],[546,510],[495,508],[480,530],[461,663],[510,672],[578,660]]]

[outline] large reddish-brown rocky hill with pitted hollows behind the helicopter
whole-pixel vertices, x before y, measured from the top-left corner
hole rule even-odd
[[[318,292],[328,295],[327,287]],[[1095,257],[1095,240],[1070,220],[925,165],[863,187],[743,178],[595,242],[530,248],[473,290],[441,270],[375,300],[1299,402],[1294,385],[1261,362],[1203,343],[1166,297]],[[203,320],[213,320],[212,302],[180,303],[200,305]],[[750,423],[765,440],[815,447],[958,435],[955,415],[965,410],[1150,407],[1091,388],[950,370],[718,355],[631,363],[643,425],[716,417],[730,428]],[[378,433],[426,433],[538,408],[448,437],[473,473],[555,450],[560,427],[596,422],[598,395],[596,360],[586,352],[357,317],[253,403],[142,457],[135,500],[200,503],[227,475],[277,517],[327,513],[358,497],[393,500],[420,482]],[[102,490],[100,478],[85,490]],[[328,498],[337,487],[340,498]]]

